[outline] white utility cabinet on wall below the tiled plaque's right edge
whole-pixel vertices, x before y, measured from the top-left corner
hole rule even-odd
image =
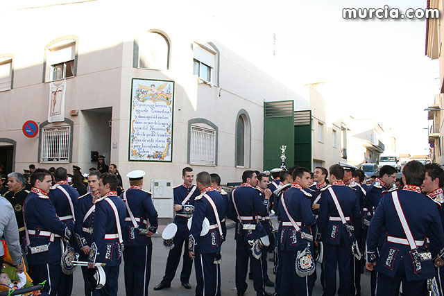
[[[153,204],[159,218],[173,218],[173,180],[151,180]]]

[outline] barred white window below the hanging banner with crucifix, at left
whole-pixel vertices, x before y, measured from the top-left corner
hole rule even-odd
[[[69,126],[42,129],[41,162],[69,162],[70,132]]]

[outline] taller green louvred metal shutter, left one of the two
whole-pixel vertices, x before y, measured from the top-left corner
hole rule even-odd
[[[294,163],[293,101],[264,102],[264,170],[279,168],[280,146],[287,146],[285,164]]]

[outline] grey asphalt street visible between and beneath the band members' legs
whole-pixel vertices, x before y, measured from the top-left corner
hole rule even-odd
[[[162,238],[157,236],[153,238],[153,263],[151,265],[151,281],[149,286],[150,295],[194,295],[194,288],[196,287],[196,277],[193,271],[191,272],[191,279],[189,283],[193,287],[191,290],[187,290],[180,285],[180,268],[182,268],[182,262],[179,264],[178,271],[176,272],[175,279],[171,282],[171,288],[167,288],[160,291],[153,290],[153,287],[160,283],[165,271],[165,263],[167,261],[168,251],[162,247]],[[271,254],[268,254],[271,257]],[[223,295],[236,295],[236,285],[234,284],[234,266],[235,266],[235,243],[234,243],[234,229],[228,229],[228,239],[222,245],[222,294]],[[268,265],[268,275],[271,281],[275,281],[275,275],[272,272],[272,262]],[[318,279],[320,275],[318,274]],[[253,289],[253,281],[247,279],[248,290],[246,295],[255,295]],[[339,284],[338,284],[339,285]],[[337,285],[337,286],[338,286]],[[370,296],[370,273],[365,272],[361,279],[361,295]],[[273,288],[266,287],[268,292],[273,292]],[[74,288],[73,296],[83,295],[83,278],[80,268],[77,268],[74,272]],[[125,284],[123,282],[123,263],[120,266],[119,275],[119,296],[125,295]],[[322,288],[319,281],[316,281],[314,286],[314,296],[322,295]],[[129,295],[128,295],[129,296]]]

